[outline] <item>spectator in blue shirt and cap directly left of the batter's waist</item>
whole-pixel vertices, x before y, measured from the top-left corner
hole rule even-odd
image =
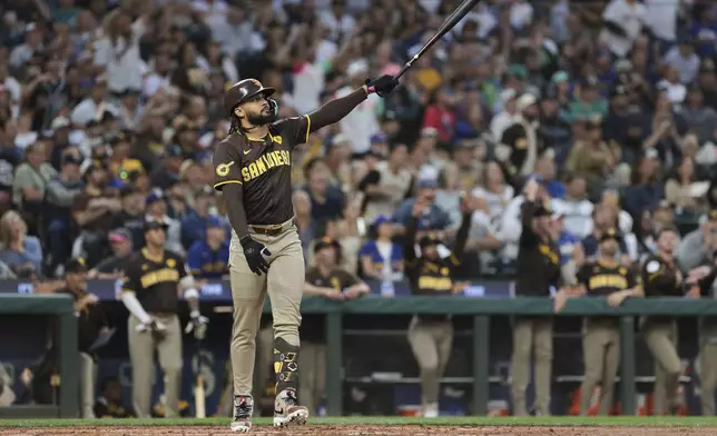
[[[210,216],[204,240],[195,241],[187,251],[187,266],[196,278],[218,279],[229,272],[229,241],[226,225]]]

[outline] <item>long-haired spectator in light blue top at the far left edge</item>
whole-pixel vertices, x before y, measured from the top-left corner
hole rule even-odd
[[[42,277],[42,246],[28,235],[28,226],[18,212],[9,210],[0,218],[0,261],[22,279]]]

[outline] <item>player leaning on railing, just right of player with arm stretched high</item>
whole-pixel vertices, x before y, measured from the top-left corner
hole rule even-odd
[[[607,297],[612,307],[618,307],[628,297],[641,295],[635,274],[616,259],[618,238],[617,230],[612,228],[600,236],[600,258],[580,268],[574,295]],[[561,290],[560,294],[556,295],[556,300],[564,303],[564,291]],[[562,307],[563,305],[557,307],[557,311]],[[585,318],[582,330],[585,379],[580,387],[580,415],[588,414],[592,390],[600,384],[598,414],[607,416],[612,408],[615,378],[620,365],[618,320],[615,317]]]

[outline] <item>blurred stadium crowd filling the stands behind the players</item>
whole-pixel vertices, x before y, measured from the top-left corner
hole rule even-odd
[[[0,4],[0,278],[51,291],[68,260],[119,278],[147,218],[199,279],[226,272],[212,189],[227,86],[308,112],[395,73],[458,0],[8,0]],[[384,99],[293,152],[308,266],[399,280],[419,236],[450,246],[478,199],[463,279],[514,274],[526,179],[539,176],[562,262],[621,234],[632,266],[677,226],[680,267],[717,249],[717,4],[482,1]],[[711,218],[710,218],[711,217]],[[445,247],[440,250],[448,252]]]

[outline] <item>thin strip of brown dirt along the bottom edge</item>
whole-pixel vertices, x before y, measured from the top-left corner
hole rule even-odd
[[[2,429],[0,436],[217,436],[234,435],[227,427],[55,427]],[[288,429],[254,427],[249,435],[480,435],[480,436],[668,436],[715,435],[715,428],[689,427],[458,427],[458,426],[369,426],[369,425],[306,425]]]

